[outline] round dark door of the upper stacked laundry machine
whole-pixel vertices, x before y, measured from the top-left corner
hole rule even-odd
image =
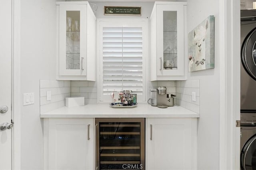
[[[256,80],[256,28],[244,39],[241,59],[246,72]]]

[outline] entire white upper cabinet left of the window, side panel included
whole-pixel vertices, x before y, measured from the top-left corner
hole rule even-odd
[[[96,80],[96,17],[88,2],[56,2],[57,80]]]

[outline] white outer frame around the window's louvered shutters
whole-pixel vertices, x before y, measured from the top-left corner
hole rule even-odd
[[[102,98],[101,92],[102,92],[102,68],[103,68],[103,62],[102,62],[102,25],[112,25],[115,27],[127,27],[127,26],[136,26],[139,25],[142,27],[142,39],[143,39],[143,46],[142,46],[142,74],[144,78],[143,82],[143,97],[142,99],[138,99],[138,102],[147,102],[148,98],[148,63],[149,63],[149,53],[148,53],[148,19],[143,18],[143,19],[134,19],[134,18],[98,18],[97,19],[97,88],[98,88],[98,103],[104,103],[104,102],[111,102],[111,98],[109,97],[109,100],[107,98]]]

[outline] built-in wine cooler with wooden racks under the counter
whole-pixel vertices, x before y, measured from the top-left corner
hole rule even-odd
[[[145,170],[145,119],[98,118],[96,170]]]

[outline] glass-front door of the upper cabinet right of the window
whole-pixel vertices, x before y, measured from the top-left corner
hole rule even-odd
[[[184,7],[157,5],[157,76],[184,75]]]

